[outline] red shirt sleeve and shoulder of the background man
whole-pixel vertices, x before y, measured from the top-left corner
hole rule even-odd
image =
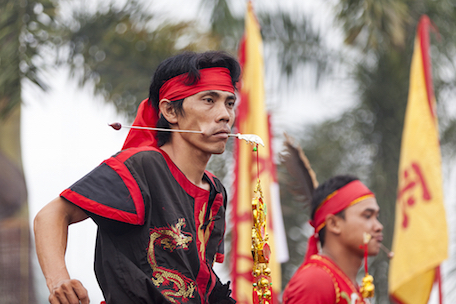
[[[318,266],[299,269],[283,293],[283,304],[333,304],[336,291],[331,275]]]

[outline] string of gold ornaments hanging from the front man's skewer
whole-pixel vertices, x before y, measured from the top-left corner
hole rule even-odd
[[[253,151],[257,153],[258,165],[258,144]],[[254,193],[255,197],[252,200],[253,304],[272,304],[271,269],[269,268],[271,249],[268,244],[269,235],[266,232],[267,207],[263,201],[259,177]]]

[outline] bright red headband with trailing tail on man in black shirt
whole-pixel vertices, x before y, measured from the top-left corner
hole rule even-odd
[[[166,81],[160,88],[159,99],[175,101],[208,90],[221,90],[234,94],[230,71],[227,68],[207,68],[199,72],[200,78],[193,85],[185,84],[187,74],[181,74]],[[138,107],[133,126],[153,128],[157,125],[157,121],[157,111],[147,99],[143,100]],[[156,133],[157,131],[130,129],[122,150],[141,146],[157,147]]]

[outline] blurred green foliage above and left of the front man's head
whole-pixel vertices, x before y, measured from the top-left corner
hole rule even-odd
[[[95,14],[76,12],[65,39],[72,75],[81,85],[93,81],[95,92],[130,119],[148,97],[151,77],[161,61],[178,51],[218,46],[217,39],[201,32],[196,23],[156,19],[135,1]]]

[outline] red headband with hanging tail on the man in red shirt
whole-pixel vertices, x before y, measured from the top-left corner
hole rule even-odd
[[[359,180],[354,180],[328,195],[317,208],[313,220],[309,221],[315,228],[315,232],[309,238],[304,261],[308,261],[313,254],[318,253],[317,233],[325,226],[327,215],[337,214],[369,197],[374,197],[374,194]]]

